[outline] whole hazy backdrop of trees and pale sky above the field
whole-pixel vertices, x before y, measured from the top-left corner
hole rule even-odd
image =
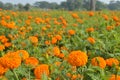
[[[0,0],[4,10],[120,10],[120,0]]]

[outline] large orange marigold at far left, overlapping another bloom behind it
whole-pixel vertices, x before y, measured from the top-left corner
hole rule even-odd
[[[5,54],[1,60],[0,63],[7,68],[14,69],[21,65],[21,57],[16,54],[16,52],[10,52]]]

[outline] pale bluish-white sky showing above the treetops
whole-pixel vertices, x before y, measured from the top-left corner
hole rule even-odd
[[[48,2],[60,3],[62,1],[66,1],[66,0],[0,0],[0,1],[2,1],[3,3],[10,2],[10,3],[13,3],[13,4],[18,4],[18,3],[22,3],[22,4],[30,3],[30,4],[33,4],[36,1],[48,1]],[[109,3],[110,0],[100,0],[100,1],[105,2],[105,3]]]

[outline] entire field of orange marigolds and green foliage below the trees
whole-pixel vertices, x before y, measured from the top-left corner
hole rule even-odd
[[[120,80],[120,12],[0,10],[0,80]]]

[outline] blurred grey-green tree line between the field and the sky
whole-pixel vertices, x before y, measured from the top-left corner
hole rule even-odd
[[[30,4],[12,4],[3,3],[0,1],[0,8],[5,10],[20,10],[28,11],[31,8],[37,9],[62,9],[62,10],[120,10],[120,1],[111,0],[109,4],[103,3],[99,0],[67,0],[57,4],[55,2],[38,1],[33,5]]]

